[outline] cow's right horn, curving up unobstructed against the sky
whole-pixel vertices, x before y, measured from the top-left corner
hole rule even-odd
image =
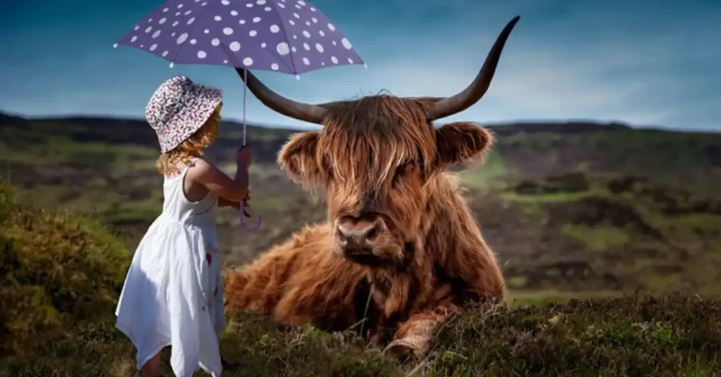
[[[448,115],[454,115],[457,112],[461,112],[471,107],[474,103],[478,102],[483,94],[486,94],[488,87],[490,87],[491,80],[495,74],[495,68],[498,65],[500,59],[500,53],[503,50],[505,41],[508,40],[508,35],[513,27],[516,26],[516,22],[521,16],[513,17],[503,28],[503,31],[498,35],[493,48],[491,48],[486,61],[481,67],[481,71],[478,72],[476,79],[464,89],[463,92],[454,95],[453,97],[446,97],[438,102],[435,102],[435,106],[430,111],[430,120],[435,120],[441,117],[447,117]]]

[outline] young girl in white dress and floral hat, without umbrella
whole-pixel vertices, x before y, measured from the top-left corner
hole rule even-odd
[[[163,210],[138,245],[120,293],[116,326],[137,349],[141,375],[160,375],[160,350],[171,346],[177,377],[198,367],[223,369],[218,337],[225,329],[215,206],[248,196],[250,148],[236,152],[231,179],[200,156],[218,137],[220,89],[185,76],[168,79],[146,106],[162,151]]]

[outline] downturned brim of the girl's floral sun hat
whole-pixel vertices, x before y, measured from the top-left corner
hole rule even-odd
[[[173,130],[175,137],[174,140],[164,143],[161,148],[162,153],[172,151],[203,127],[223,101],[223,91],[194,83],[187,97],[187,105],[167,123],[167,129]]]

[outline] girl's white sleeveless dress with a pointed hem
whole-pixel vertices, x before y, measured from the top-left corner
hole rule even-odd
[[[200,367],[219,377],[218,337],[226,324],[217,195],[187,200],[183,181],[188,169],[164,179],[163,210],[133,256],[115,326],[136,346],[138,369],[169,345],[175,376],[193,376]]]

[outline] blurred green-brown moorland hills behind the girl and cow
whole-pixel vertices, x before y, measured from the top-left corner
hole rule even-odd
[[[523,296],[607,296],[642,290],[721,292],[721,134],[619,123],[487,125],[480,166],[459,167],[509,288]],[[255,257],[325,218],[275,162],[295,132],[249,126],[252,208],[247,233],[220,210],[226,266]],[[221,123],[208,157],[233,174],[242,125]],[[112,224],[133,250],[162,207],[159,154],[140,119],[0,115],[1,176],[18,200],[74,208]]]

